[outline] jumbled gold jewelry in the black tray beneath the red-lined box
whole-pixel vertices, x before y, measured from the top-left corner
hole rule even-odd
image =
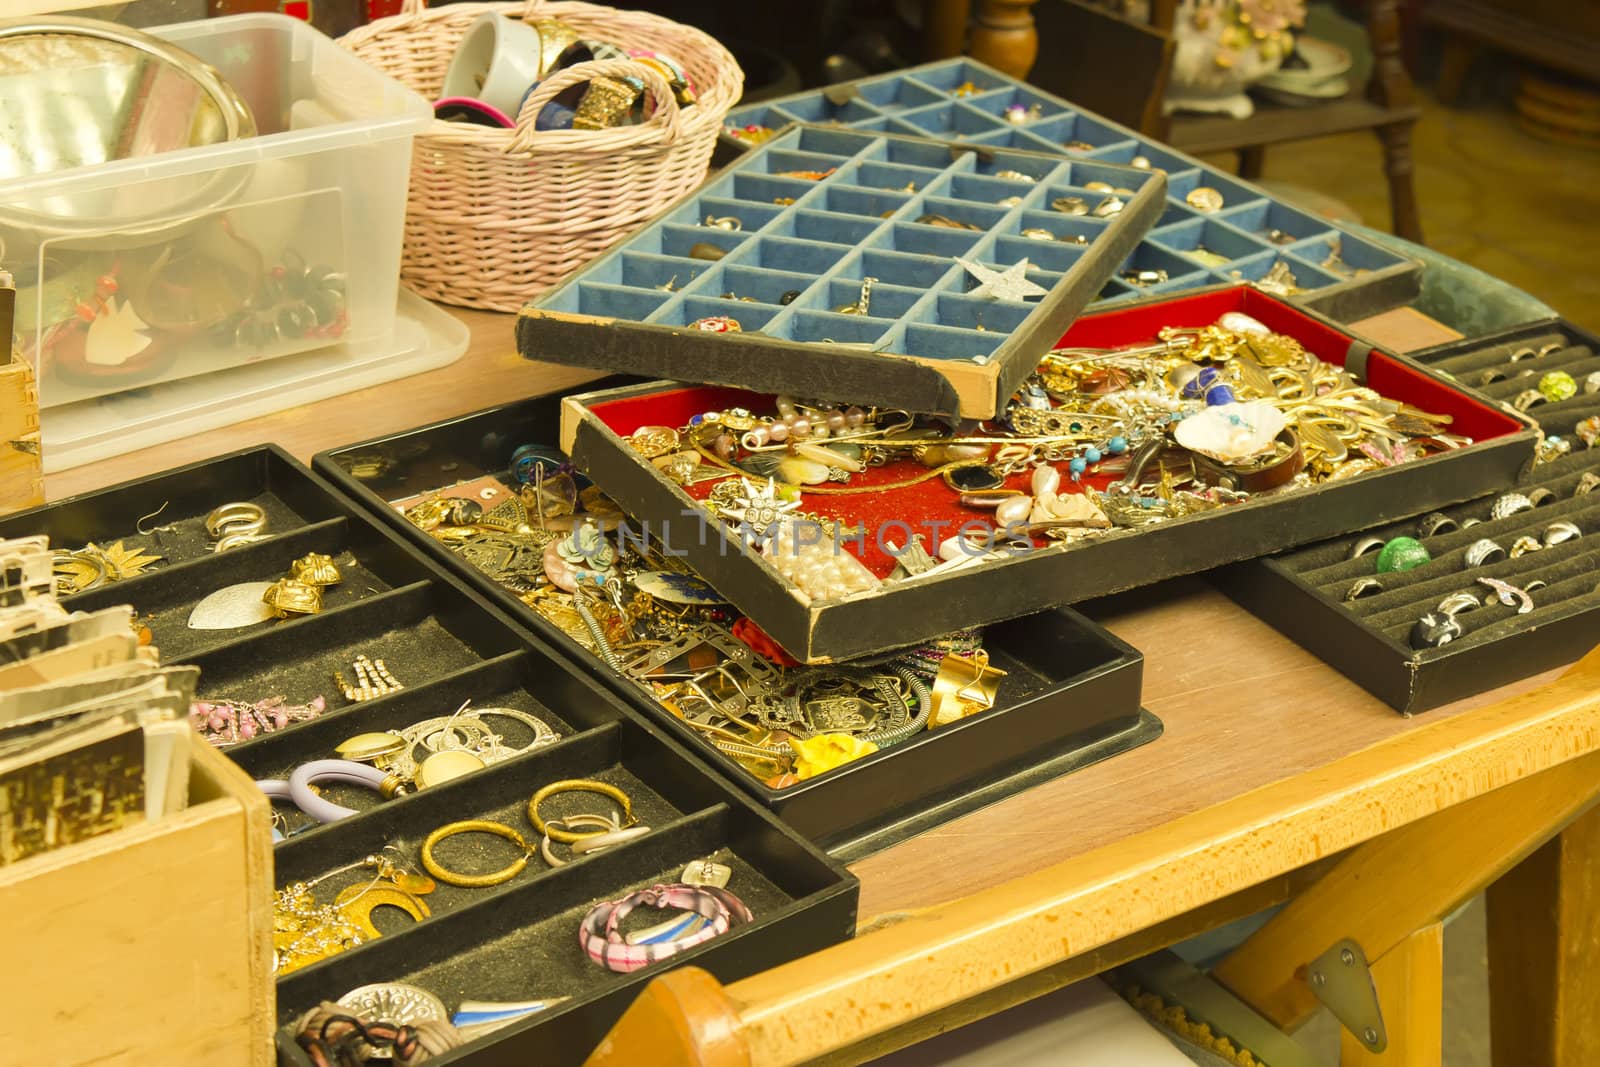
[[[677,430],[651,427],[630,442],[669,477],[722,477]],[[989,665],[978,633],[870,664],[797,669],[670,552],[634,537],[614,544],[606,530],[621,512],[594,486],[579,491],[565,456],[523,446],[510,474],[518,493],[488,512],[469,498],[429,496],[405,514],[770,787],[995,704],[1005,672]],[[728,507],[750,525],[795,514],[771,496],[771,478],[723,485],[739,490]],[[840,589],[877,581],[853,557],[830,553],[806,576]]]

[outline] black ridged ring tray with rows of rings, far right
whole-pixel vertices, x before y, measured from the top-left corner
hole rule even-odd
[[[1546,357],[1510,355],[1560,346]],[[1562,403],[1542,403],[1528,411],[1547,435],[1570,442],[1571,453],[1539,462],[1523,472],[1515,485],[1478,496],[1442,512],[1458,523],[1478,518],[1482,525],[1422,537],[1434,560],[1403,574],[1374,574],[1376,553],[1349,560],[1352,545],[1366,536],[1387,541],[1418,536],[1418,520],[1387,523],[1296,552],[1251,560],[1218,571],[1214,582],[1242,606],[1261,616],[1299,645],[1328,661],[1341,673],[1365,686],[1400,712],[1424,712],[1442,704],[1483,693],[1571,662],[1600,641],[1600,494],[1573,496],[1586,474],[1600,477],[1600,451],[1589,450],[1574,426],[1600,416],[1600,394],[1584,394],[1584,378],[1600,371],[1600,338],[1565,320],[1515,326],[1483,338],[1454,341],[1411,354],[1432,370],[1454,378],[1464,387],[1509,402],[1523,389],[1536,389],[1550,370],[1565,370],[1578,382],[1578,395]],[[1499,370],[1502,381],[1480,384],[1482,374]],[[1525,370],[1534,374],[1518,379]],[[1491,520],[1490,509],[1502,493],[1554,498],[1533,510]],[[1576,523],[1584,536],[1520,558],[1466,569],[1466,549],[1478,537],[1496,541],[1507,552],[1522,536],[1539,537],[1554,522]],[[1376,576],[1384,590],[1354,603],[1344,601],[1350,584]],[[1499,603],[1459,616],[1462,637],[1438,648],[1414,649],[1411,624],[1454,592],[1488,587],[1478,577],[1496,577],[1512,585],[1534,579],[1549,582],[1533,592],[1533,611],[1514,614]]]

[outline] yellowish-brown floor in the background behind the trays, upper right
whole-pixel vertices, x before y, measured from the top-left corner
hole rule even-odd
[[[1416,195],[1427,243],[1600,330],[1600,152],[1523,133],[1509,104],[1442,107],[1419,91]],[[1229,157],[1210,157],[1232,166]],[[1267,152],[1266,181],[1338,197],[1387,227],[1378,138],[1349,133]]]

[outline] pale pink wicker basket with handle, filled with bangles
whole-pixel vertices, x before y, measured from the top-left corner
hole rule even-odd
[[[448,304],[517,310],[698,186],[744,88],[739,64],[715,38],[643,11],[574,0],[406,5],[339,43],[429,99],[485,11],[555,18],[589,38],[672,56],[698,93],[680,110],[666,80],[642,64],[581,62],[539,83],[515,130],[435,122],[411,158],[402,277]],[[642,80],[650,118],[616,130],[534,130],[547,101],[598,75]]]

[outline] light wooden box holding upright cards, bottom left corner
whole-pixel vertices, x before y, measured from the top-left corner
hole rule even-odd
[[[267,798],[195,742],[189,808],[0,867],[0,1061],[272,1062]]]

